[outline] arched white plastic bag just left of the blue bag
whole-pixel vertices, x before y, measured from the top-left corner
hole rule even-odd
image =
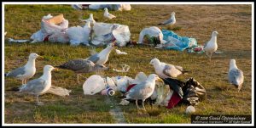
[[[149,37],[152,37],[152,36],[159,37],[160,38],[160,43],[165,42],[163,40],[164,35],[163,35],[162,31],[156,26],[152,26],[152,27],[149,27],[149,28],[144,28],[143,31],[140,32],[138,43],[143,43],[143,38],[144,38],[145,35],[148,35]]]

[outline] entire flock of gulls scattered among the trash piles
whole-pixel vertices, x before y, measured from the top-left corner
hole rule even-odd
[[[108,19],[116,18],[113,14],[108,13],[108,8],[104,8],[103,16]],[[96,21],[93,19],[93,14],[90,14],[89,19],[85,19],[84,21],[95,24]],[[171,18],[166,21],[160,23],[159,25],[174,25],[176,23],[175,12],[172,12]],[[218,45],[217,45],[217,31],[212,32],[211,39],[205,44],[204,51],[207,53],[207,56],[212,58],[212,53],[215,53]],[[108,70],[104,64],[108,62],[108,56],[111,51],[115,48],[114,42],[109,43],[108,46],[103,49],[100,53],[95,53],[88,58],[77,58],[73,60],[69,60],[64,64],[59,66],[44,66],[44,75],[39,77],[38,79],[34,79],[32,81],[28,81],[32,78],[36,73],[35,67],[35,59],[39,56],[37,53],[31,53],[28,57],[27,63],[15,70],[9,71],[9,73],[5,74],[6,77],[14,77],[20,81],[22,81],[22,85],[19,87],[14,87],[9,91],[19,91],[19,92],[28,92],[32,95],[35,95],[37,98],[37,104],[42,105],[38,100],[38,96],[44,94],[47,90],[49,90],[51,86],[51,71],[59,69],[73,70],[75,74],[77,74],[77,81],[79,82],[79,75],[89,72],[96,72],[98,70]],[[43,58],[43,57],[41,57]],[[148,78],[145,78],[145,81],[141,82],[137,86],[134,86],[125,93],[126,98],[131,98],[136,100],[143,100],[143,109],[144,101],[146,98],[150,97],[154,92],[155,81],[158,81],[166,78],[176,78],[178,75],[183,75],[188,71],[183,70],[183,67],[166,64],[164,62],[160,62],[158,58],[153,58],[149,64],[152,64],[155,70],[155,74],[148,75]],[[243,72],[239,70],[236,66],[236,60],[230,60],[230,70],[228,73],[228,79],[232,85],[235,85],[238,88],[238,92],[241,90],[242,83],[244,81]],[[28,81],[28,82],[26,82]],[[137,109],[139,109],[137,105]]]

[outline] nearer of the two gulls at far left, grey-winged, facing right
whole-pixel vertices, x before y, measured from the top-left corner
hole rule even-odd
[[[44,103],[39,102],[39,95],[44,94],[51,87],[51,70],[57,70],[51,65],[44,66],[44,74],[38,79],[28,81],[19,87],[14,87],[8,91],[19,91],[28,92],[29,94],[35,95],[37,97],[37,105],[43,105]]]

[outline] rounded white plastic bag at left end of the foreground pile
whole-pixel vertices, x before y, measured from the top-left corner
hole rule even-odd
[[[103,89],[106,89],[106,84],[100,75],[90,75],[83,85],[84,95],[94,95]]]

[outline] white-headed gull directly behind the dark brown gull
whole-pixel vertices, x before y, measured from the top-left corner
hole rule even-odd
[[[95,64],[105,64],[108,61],[109,53],[111,53],[111,51],[114,48],[114,44],[115,44],[114,42],[109,43],[108,47],[103,49],[100,53],[96,53],[94,55],[91,55],[89,58],[85,58],[85,59],[90,60]]]

